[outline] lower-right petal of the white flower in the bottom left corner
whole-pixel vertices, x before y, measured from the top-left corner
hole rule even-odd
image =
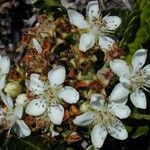
[[[16,123],[19,126],[20,133],[18,133],[18,135],[20,135],[20,137],[29,136],[31,134],[31,130],[29,129],[29,127],[25,124],[23,120],[17,120]]]

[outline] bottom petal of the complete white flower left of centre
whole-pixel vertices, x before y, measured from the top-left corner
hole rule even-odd
[[[62,105],[57,104],[48,108],[48,116],[50,120],[56,124],[60,125],[64,117],[64,108]]]

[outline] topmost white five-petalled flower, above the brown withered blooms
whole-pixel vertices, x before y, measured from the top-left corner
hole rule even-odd
[[[86,52],[92,48],[97,39],[99,46],[105,50],[110,48],[115,41],[105,33],[111,32],[119,27],[121,19],[117,16],[105,16],[101,18],[98,1],[91,1],[87,5],[87,20],[75,10],[69,9],[68,15],[70,23],[87,32],[80,37],[79,49]]]

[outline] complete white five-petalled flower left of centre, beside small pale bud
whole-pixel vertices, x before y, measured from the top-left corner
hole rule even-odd
[[[31,74],[30,81],[26,85],[37,99],[32,100],[26,107],[26,113],[31,116],[39,116],[47,113],[49,119],[60,125],[64,117],[64,108],[60,104],[61,99],[72,104],[79,100],[79,93],[71,86],[62,86],[66,78],[66,70],[63,66],[57,66],[48,72],[48,82],[39,79],[38,74]]]

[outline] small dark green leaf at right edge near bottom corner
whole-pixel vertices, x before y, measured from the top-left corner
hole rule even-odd
[[[149,126],[140,126],[136,129],[136,131],[133,133],[132,138],[138,138],[141,135],[147,135],[149,131]]]

